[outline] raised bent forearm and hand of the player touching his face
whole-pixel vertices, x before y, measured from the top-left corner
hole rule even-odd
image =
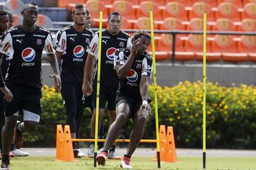
[[[114,67],[119,79],[124,79],[127,76],[129,70],[132,67],[132,63],[134,62],[134,58],[138,54],[139,49],[140,49],[140,47],[139,47],[139,39],[138,39],[132,43],[131,52],[130,52],[127,62],[125,62],[124,64],[117,64]]]

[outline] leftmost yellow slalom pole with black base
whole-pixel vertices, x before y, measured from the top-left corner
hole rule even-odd
[[[101,49],[102,49],[102,11],[100,11],[100,28],[99,28],[99,48],[98,48],[98,60],[97,60],[97,98],[96,98],[96,120],[95,120],[95,153],[94,153],[94,166],[96,167],[97,157],[97,136],[98,136],[98,124],[99,124],[99,101],[100,101],[100,65],[101,65]]]

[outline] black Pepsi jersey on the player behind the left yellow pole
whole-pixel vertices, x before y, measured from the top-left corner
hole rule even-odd
[[[99,33],[95,33],[87,47],[87,52],[95,56],[95,61],[98,57],[98,42]],[[114,71],[114,51],[122,47],[130,47],[132,45],[131,38],[127,33],[120,31],[117,35],[111,35],[108,30],[102,31],[102,49],[101,49],[101,72],[100,86],[107,88],[118,88],[118,77]],[[96,67],[97,69],[97,67]],[[93,84],[96,84],[97,72],[93,79]]]

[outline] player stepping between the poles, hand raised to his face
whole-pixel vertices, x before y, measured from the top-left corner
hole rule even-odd
[[[130,49],[119,49],[114,53],[114,69],[119,77],[117,91],[117,118],[107,132],[107,139],[102,152],[97,155],[97,162],[105,165],[107,150],[119,131],[129,118],[134,121],[134,128],[129,137],[127,153],[124,154],[120,166],[123,169],[132,169],[130,159],[139,140],[142,139],[146,120],[149,116],[148,84],[152,72],[152,58],[146,52],[151,37],[145,31],[137,31],[132,37]]]

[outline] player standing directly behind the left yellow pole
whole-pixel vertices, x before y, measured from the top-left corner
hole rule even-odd
[[[107,29],[102,31],[102,51],[101,51],[101,72],[100,72],[100,109],[99,109],[99,129],[102,123],[103,113],[105,113],[105,104],[110,113],[110,125],[116,118],[115,97],[118,89],[117,74],[113,69],[114,51],[121,47],[130,47],[132,45],[131,38],[127,33],[120,30],[122,26],[122,16],[117,11],[110,13],[107,20]],[[87,48],[88,57],[85,63],[84,80],[82,91],[85,96],[92,94],[93,115],[91,119],[91,136],[95,137],[95,119],[96,119],[96,95],[97,95],[97,71],[92,83],[93,61],[97,62],[98,56],[98,40],[99,32],[95,33],[90,45]],[[93,89],[93,90],[92,90]],[[114,152],[115,146],[112,145],[109,159],[121,159]],[[94,157],[94,142],[90,145],[88,157]]]

